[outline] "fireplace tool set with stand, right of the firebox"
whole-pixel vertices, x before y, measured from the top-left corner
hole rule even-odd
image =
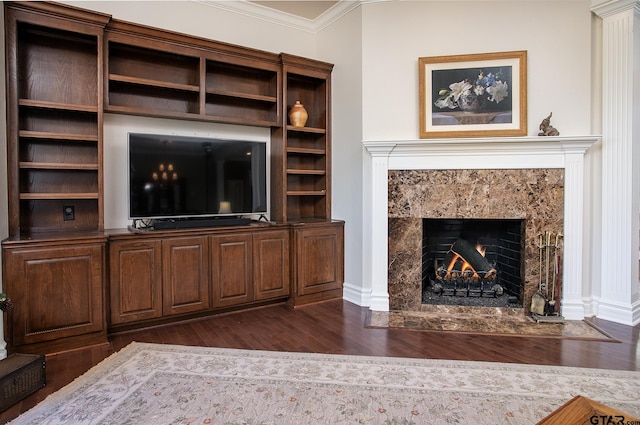
[[[537,322],[563,322],[560,316],[562,233],[538,235],[539,283],[531,298],[531,316]]]

